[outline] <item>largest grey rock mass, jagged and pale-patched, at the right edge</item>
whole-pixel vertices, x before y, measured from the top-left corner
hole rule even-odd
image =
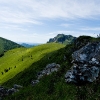
[[[72,54],[73,66],[65,74],[67,83],[93,82],[100,73],[100,42],[88,43]]]

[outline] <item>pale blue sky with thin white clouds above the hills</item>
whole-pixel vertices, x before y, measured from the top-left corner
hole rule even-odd
[[[100,0],[0,0],[0,37],[46,43],[62,33],[97,36]]]

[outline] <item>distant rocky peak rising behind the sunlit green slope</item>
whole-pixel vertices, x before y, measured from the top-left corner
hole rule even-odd
[[[75,39],[76,37],[73,37],[72,35],[58,34],[56,37],[50,38],[48,43],[57,42],[57,43],[69,44],[72,43]]]

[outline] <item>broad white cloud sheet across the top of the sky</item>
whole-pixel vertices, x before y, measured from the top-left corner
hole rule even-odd
[[[45,18],[95,18],[99,0],[1,0],[0,22],[41,24]]]

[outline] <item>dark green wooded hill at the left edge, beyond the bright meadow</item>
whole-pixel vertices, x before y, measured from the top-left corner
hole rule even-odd
[[[14,48],[23,47],[11,40],[7,40],[5,38],[0,37],[0,50],[8,51]]]

